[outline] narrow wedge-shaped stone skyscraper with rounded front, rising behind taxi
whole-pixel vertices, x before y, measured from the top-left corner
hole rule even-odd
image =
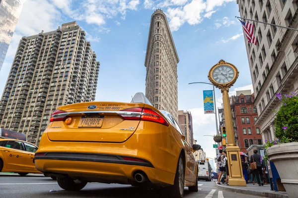
[[[178,54],[162,10],[151,15],[145,58],[146,97],[151,104],[166,110],[178,120]]]

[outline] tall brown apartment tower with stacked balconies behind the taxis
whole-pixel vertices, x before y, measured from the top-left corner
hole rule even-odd
[[[39,144],[58,106],[95,99],[99,65],[76,22],[23,37],[1,98],[0,128]]]

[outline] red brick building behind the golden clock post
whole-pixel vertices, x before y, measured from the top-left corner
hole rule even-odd
[[[237,91],[236,96],[230,98],[236,145],[244,153],[251,145],[263,144],[260,126],[254,125],[258,112],[253,102],[254,94],[250,90]]]

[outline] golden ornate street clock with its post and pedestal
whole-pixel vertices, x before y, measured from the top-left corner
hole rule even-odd
[[[221,83],[222,80],[215,80],[214,78],[218,79],[219,77],[217,74],[220,71],[227,71],[227,82]],[[232,71],[233,72],[232,72]],[[239,76],[238,69],[231,63],[225,62],[224,60],[220,60],[216,65],[214,65],[210,71],[208,78],[213,85],[217,88],[221,89],[223,93],[223,101],[224,101],[224,117],[225,117],[225,129],[226,129],[226,136],[227,136],[227,147],[226,147],[226,154],[227,154],[227,167],[229,172],[229,179],[228,184],[229,186],[246,186],[246,181],[243,177],[242,172],[242,163],[240,158],[240,148],[236,146],[235,139],[234,139],[234,132],[233,132],[233,121],[232,121],[232,112],[230,107],[230,100],[228,96],[228,91],[231,86],[236,82]],[[232,78],[228,81],[228,78]]]

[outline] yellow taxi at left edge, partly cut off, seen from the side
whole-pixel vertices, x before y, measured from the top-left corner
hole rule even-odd
[[[0,139],[0,172],[13,172],[21,176],[41,173],[33,163],[37,149],[35,145],[22,140]]]

